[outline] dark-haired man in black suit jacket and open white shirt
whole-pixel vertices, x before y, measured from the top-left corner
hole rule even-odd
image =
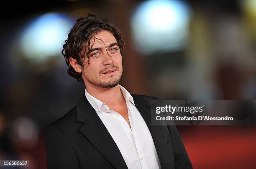
[[[48,169],[192,168],[175,126],[151,125],[151,100],[119,85],[124,47],[108,20],[87,15],[69,32],[68,74],[84,82],[77,105],[47,127]]]

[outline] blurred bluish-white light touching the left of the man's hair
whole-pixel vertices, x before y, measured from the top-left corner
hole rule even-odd
[[[34,20],[21,37],[25,55],[33,60],[44,60],[61,54],[64,40],[74,21],[66,15],[48,13]]]

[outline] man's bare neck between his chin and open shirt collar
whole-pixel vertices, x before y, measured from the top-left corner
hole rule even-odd
[[[120,105],[125,102],[123,94],[120,91],[119,85],[116,85],[112,88],[103,88],[98,86],[86,85],[86,90],[93,97],[107,104],[108,107]]]

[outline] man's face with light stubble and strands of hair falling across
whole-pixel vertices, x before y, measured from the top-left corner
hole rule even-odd
[[[122,56],[117,40],[111,32],[102,30],[90,39],[90,64],[83,64],[85,85],[111,88],[118,85],[122,72]],[[88,57],[84,60],[86,63]]]

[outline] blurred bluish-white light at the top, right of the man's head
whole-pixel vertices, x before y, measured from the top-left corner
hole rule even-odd
[[[190,15],[183,1],[143,2],[131,20],[134,47],[146,54],[181,50],[189,38]]]

